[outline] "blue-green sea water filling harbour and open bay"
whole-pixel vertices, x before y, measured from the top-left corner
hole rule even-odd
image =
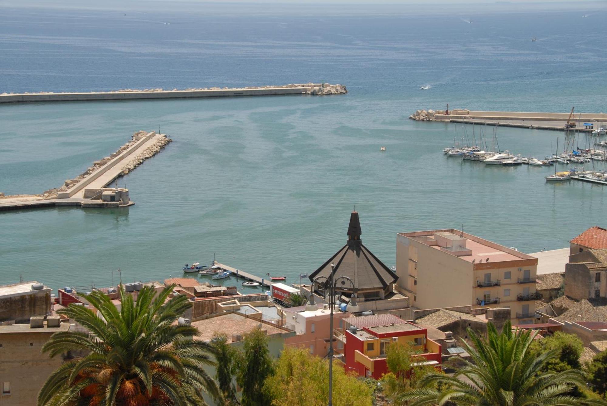
[[[534,252],[605,225],[604,187],[546,184],[553,168],[447,158],[453,125],[407,119],[447,102],[605,111],[607,32],[592,28],[604,5],[416,15],[398,7],[339,14],[335,6],[325,16],[312,6],[279,7],[253,19],[192,7],[147,14],[4,7],[0,93],[321,79],[350,93],[1,105],[7,194],[57,187],[135,130],[160,126],[174,142],[118,181],[133,207],[0,212],[0,283],[21,275],[53,288],[106,286],[118,281],[117,268],[128,281],[163,280],[213,255],[297,282],[344,244],[354,204],[365,245],[388,266],[403,231],[463,225]],[[419,90],[426,84],[432,88]],[[557,137],[563,145],[557,131],[499,128],[498,137],[502,149],[524,156],[548,155]]]

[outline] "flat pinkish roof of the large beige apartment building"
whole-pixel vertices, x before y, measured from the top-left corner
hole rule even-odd
[[[450,255],[457,256],[467,262],[483,263],[535,259],[512,248],[504,247],[504,245],[487,241],[486,239],[455,230],[454,228],[398,234],[429,245],[437,251],[444,251]],[[453,246],[439,246],[439,238],[450,241],[450,244],[453,244]],[[458,248],[456,244],[461,245],[461,248]]]

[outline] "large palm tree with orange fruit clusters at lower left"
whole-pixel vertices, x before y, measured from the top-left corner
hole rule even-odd
[[[120,310],[101,291],[81,295],[95,309],[70,304],[60,310],[87,331],[64,331],[42,347],[55,357],[76,351],[38,393],[38,405],[206,405],[219,398],[217,384],[203,369],[214,365],[211,344],[177,319],[191,307],[174,285],[155,296],[152,287],[137,302],[120,287]]]

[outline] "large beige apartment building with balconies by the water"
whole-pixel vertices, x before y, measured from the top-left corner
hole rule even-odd
[[[518,324],[533,323],[537,258],[464,233],[398,233],[398,287],[412,308],[507,307]]]

